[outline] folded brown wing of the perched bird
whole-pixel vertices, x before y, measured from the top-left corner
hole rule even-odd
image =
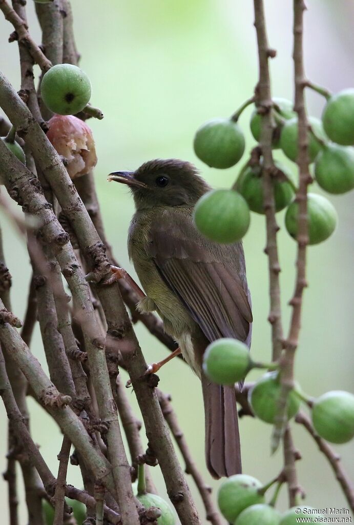
[[[241,244],[218,245],[205,239],[191,215],[165,210],[149,232],[149,255],[209,341],[245,341],[252,312]]]

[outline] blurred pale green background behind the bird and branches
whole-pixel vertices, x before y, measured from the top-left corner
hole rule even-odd
[[[33,1],[28,0],[29,27],[40,42]],[[292,99],[292,2],[266,0],[270,44],[277,49],[272,61],[275,96]],[[305,23],[305,62],[307,76],[338,91],[353,83],[352,19],[350,0],[309,0]],[[203,176],[215,187],[230,186],[240,165],[229,170],[207,168],[196,159],[192,140],[199,125],[213,117],[229,116],[252,91],[258,76],[255,55],[252,3],[241,0],[73,0],[74,27],[81,67],[89,75],[92,103],[104,112],[102,121],[90,121],[99,162],[95,177],[104,222],[114,252],[121,264],[134,275],[127,258],[126,236],[133,203],[124,187],[106,183],[106,175],[131,170],[153,158],[181,158],[195,162]],[[10,24],[0,17],[0,67],[19,89],[18,49],[9,45]],[[36,69],[38,73],[38,70]],[[323,99],[307,93],[309,112],[320,116]],[[248,149],[254,144],[248,121],[251,109],[240,123],[246,133]],[[276,153],[277,158],[282,155]],[[315,191],[319,191],[315,188]],[[297,352],[296,375],[306,392],[314,396],[327,390],[353,391],[353,198],[352,194],[330,196],[339,214],[339,227],[324,244],[308,250],[309,288],[305,293],[302,332]],[[20,213],[20,211],[17,211]],[[24,241],[0,211],[4,229],[7,263],[13,275],[13,309],[24,316],[30,269]],[[283,319],[288,327],[287,301],[294,285],[295,243],[283,228],[278,214]],[[270,326],[267,295],[267,261],[263,217],[253,214],[251,228],[244,238],[248,280],[252,293],[254,325],[252,354],[270,358]],[[147,362],[166,356],[166,350],[141,324],[136,332]],[[44,352],[39,331],[32,351],[41,362]],[[169,392],[192,454],[208,483],[217,489],[220,482],[210,479],[204,463],[203,410],[198,379],[180,360],[160,372],[160,387]],[[255,379],[259,374],[250,375]],[[134,394],[129,395],[135,405]],[[56,474],[56,455],[61,444],[59,429],[38,405],[29,400],[31,430],[42,455]],[[296,447],[303,460],[297,463],[299,481],[307,505],[316,508],[346,507],[346,500],[326,460],[303,428],[294,427]],[[280,451],[270,457],[271,428],[251,418],[241,421],[244,472],[269,481],[282,465]],[[144,432],[142,436],[145,441]],[[353,444],[335,447],[344,465],[354,476]],[[0,471],[5,470],[6,415],[0,404]],[[154,469],[156,484],[163,495],[160,471]],[[20,480],[20,476],[19,476]],[[188,478],[201,511],[201,500]],[[68,482],[81,486],[77,467],[69,467]],[[21,484],[21,482],[20,482]],[[8,521],[7,487],[0,479],[2,521]],[[286,491],[280,507],[286,508]],[[26,509],[20,503],[21,523]]]

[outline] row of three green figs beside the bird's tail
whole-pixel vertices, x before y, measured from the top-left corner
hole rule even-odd
[[[211,381],[233,385],[243,381],[251,369],[273,369],[264,374],[249,391],[249,403],[255,416],[274,424],[281,391],[276,363],[256,363],[248,347],[236,339],[219,339],[211,343],[203,357],[203,370]],[[312,421],[317,434],[331,443],[346,443],[354,437],[354,395],[332,391],[312,400],[299,385],[288,396],[287,417],[299,411],[301,402],[312,407]]]

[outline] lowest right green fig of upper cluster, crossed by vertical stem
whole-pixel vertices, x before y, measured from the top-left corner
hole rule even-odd
[[[285,226],[288,233],[297,235],[298,203],[292,202],[286,210]],[[338,215],[335,207],[322,195],[307,194],[307,224],[309,244],[322,243],[336,229]]]

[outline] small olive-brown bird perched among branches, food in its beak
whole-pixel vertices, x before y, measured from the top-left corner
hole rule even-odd
[[[220,245],[196,229],[192,212],[210,187],[189,162],[153,160],[109,178],[130,187],[136,206],[128,252],[146,292],[138,309],[159,314],[201,379],[210,474],[239,474],[234,388],[211,383],[203,374],[202,356],[211,341],[223,337],[250,346],[252,312],[242,244]]]

